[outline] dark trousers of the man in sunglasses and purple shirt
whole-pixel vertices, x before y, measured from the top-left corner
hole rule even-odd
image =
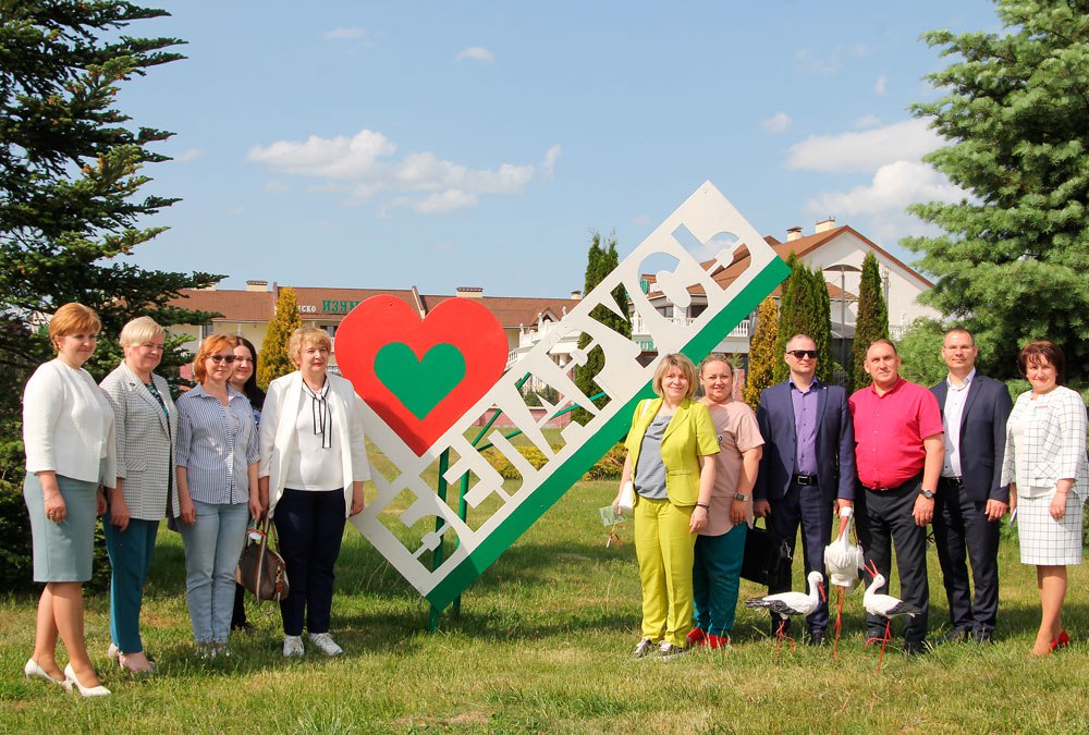
[[[832,541],[832,504],[821,498],[820,486],[791,483],[782,500],[771,502],[769,528],[775,536],[785,539],[794,556],[798,540],[798,526],[802,526],[802,553],[805,559],[806,574],[820,572],[824,574],[824,547]],[[768,593],[775,595],[791,589],[793,572],[790,560],[779,565],[779,574],[768,580]],[[827,585],[827,583],[825,583]],[[825,586],[827,589],[827,586]],[[806,589],[805,591],[808,591]],[[771,613],[772,630],[778,630],[781,617]],[[828,600],[821,600],[817,608],[806,617],[810,630],[823,630],[828,627]]]

